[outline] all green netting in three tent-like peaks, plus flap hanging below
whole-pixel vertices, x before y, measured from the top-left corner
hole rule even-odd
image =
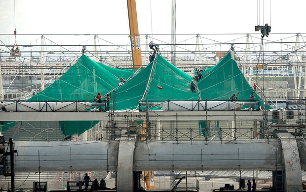
[[[229,99],[229,96],[238,92],[238,99],[249,99],[253,90],[230,53],[202,73],[203,78],[197,81],[202,100]],[[132,74],[132,71],[96,63],[82,55],[58,80],[29,100],[94,101],[97,92],[101,92],[102,96],[111,93],[111,108],[125,110],[137,108],[140,99],[199,99],[198,93],[191,93],[190,90],[192,77],[160,55],[157,55],[155,61],[146,68],[117,87],[121,76],[126,80]],[[114,93],[112,90],[115,88]],[[256,95],[256,99],[260,97]],[[64,135],[71,135],[81,134],[97,123],[98,121],[63,121],[60,125]]]

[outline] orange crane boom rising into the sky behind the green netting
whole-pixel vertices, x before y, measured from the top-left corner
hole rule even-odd
[[[135,0],[127,0],[127,9],[130,25],[129,37],[131,38],[133,66],[134,68],[140,68],[142,66],[142,58]]]

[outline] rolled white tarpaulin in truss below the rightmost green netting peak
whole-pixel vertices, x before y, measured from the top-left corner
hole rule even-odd
[[[162,103],[164,111],[224,111],[233,110],[245,105],[256,105],[256,102],[239,101],[169,101]]]

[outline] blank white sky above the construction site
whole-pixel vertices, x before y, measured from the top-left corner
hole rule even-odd
[[[14,2],[20,44],[32,41],[18,36],[23,33],[129,34],[126,0],[0,0],[0,34],[14,32]],[[259,14],[260,23],[258,2],[261,11],[265,9],[265,14]],[[136,0],[139,33],[170,34],[171,3],[172,0]],[[306,0],[176,0],[176,33],[258,33],[260,37],[255,26],[265,23],[271,26],[270,36],[303,33],[305,8]],[[177,37],[177,42],[185,38]],[[12,44],[7,42],[12,39],[13,35],[0,35],[4,43]],[[115,43],[128,43],[127,35],[123,41]]]

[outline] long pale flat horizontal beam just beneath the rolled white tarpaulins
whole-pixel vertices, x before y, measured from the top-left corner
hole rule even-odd
[[[0,112],[0,121],[108,121],[109,112]],[[162,120],[241,120],[262,119],[262,111],[150,111],[150,119]],[[146,111],[115,111],[114,121],[146,120]],[[272,119],[272,114],[269,114]]]

